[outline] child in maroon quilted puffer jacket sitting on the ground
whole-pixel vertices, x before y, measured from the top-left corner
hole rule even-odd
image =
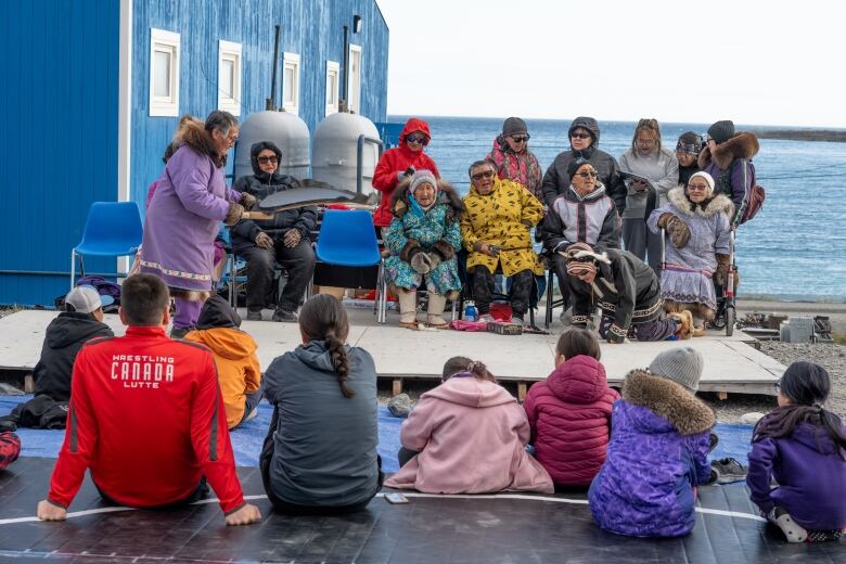
[[[536,457],[555,486],[589,486],[605,462],[611,409],[619,394],[608,387],[597,337],[584,329],[562,333],[555,370],[529,389],[523,409]]]

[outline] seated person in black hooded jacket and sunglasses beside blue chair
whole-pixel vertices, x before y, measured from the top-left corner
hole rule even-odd
[[[249,149],[252,176],[235,181],[234,190],[261,201],[282,190],[299,188],[296,178],[279,170],[282,151],[270,141]],[[279,296],[273,321],[296,321],[296,310],[315,272],[309,234],[317,229],[317,208],[278,211],[273,219],[242,219],[232,228],[232,246],[247,261],[247,321],[261,321],[261,309],[271,296],[274,261],[287,269],[287,283]]]

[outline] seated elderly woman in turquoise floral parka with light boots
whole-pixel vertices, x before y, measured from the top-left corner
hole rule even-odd
[[[460,215],[464,209],[452,187],[435,179],[428,170],[418,170],[397,185],[392,213],[384,231],[390,256],[385,272],[399,297],[399,324],[418,329],[418,289],[428,290],[426,324],[449,325],[441,315],[447,297],[461,290],[456,252],[461,248]]]

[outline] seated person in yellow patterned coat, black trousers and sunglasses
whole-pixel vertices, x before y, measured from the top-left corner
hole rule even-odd
[[[543,207],[522,184],[497,178],[496,166],[490,161],[473,163],[470,178],[461,236],[470,253],[467,272],[473,275],[473,299],[479,320],[491,321],[493,274],[501,268],[502,274],[511,278],[509,300],[513,321],[523,323],[535,274],[543,275],[530,234],[543,216]]]

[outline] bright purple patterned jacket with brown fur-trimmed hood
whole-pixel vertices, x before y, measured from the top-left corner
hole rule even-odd
[[[707,482],[710,408],[679,384],[636,370],[614,403],[611,443],[588,491],[599,526],[633,537],[693,528],[693,487]]]

